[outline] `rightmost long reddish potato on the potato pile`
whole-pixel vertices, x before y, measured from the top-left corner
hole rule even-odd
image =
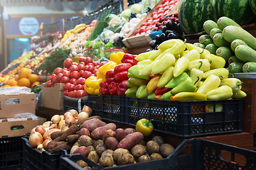
[[[128,134],[123,140],[119,142],[117,148],[131,149],[134,145],[137,145],[143,140],[143,135],[141,132],[133,132]]]

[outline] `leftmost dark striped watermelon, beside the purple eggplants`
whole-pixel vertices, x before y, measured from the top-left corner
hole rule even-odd
[[[178,22],[187,34],[203,31],[203,23],[211,19],[210,0],[182,0],[178,8]]]

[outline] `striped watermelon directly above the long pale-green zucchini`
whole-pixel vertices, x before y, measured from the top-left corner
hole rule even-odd
[[[248,0],[212,0],[211,9],[213,21],[215,22],[221,16],[227,16],[242,26],[252,23],[256,18]]]

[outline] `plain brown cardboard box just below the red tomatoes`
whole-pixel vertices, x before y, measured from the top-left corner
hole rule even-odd
[[[42,106],[58,111],[63,110],[63,86],[64,84],[55,84],[54,87],[45,87],[42,85]]]

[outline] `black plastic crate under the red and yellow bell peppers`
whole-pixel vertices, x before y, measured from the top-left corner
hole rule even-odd
[[[88,95],[88,106],[93,115],[104,120],[125,123],[125,97],[107,95]]]

